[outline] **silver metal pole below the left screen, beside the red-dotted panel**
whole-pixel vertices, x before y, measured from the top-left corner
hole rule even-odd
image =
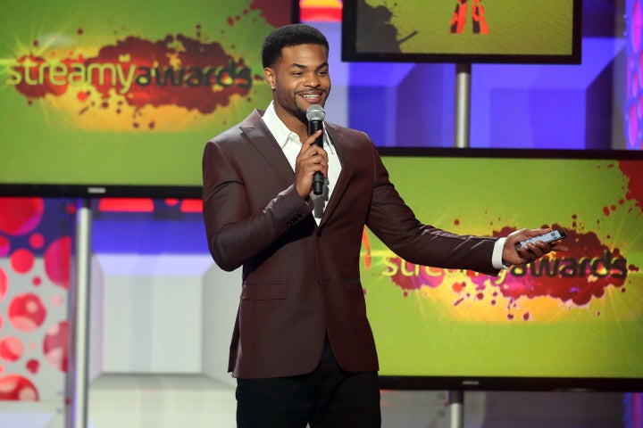
[[[69,292],[69,365],[65,379],[65,426],[88,426],[89,279],[91,276],[91,201],[76,213],[75,280]]]

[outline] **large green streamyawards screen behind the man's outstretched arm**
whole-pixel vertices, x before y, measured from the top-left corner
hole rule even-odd
[[[485,276],[413,265],[367,230],[362,280],[385,386],[640,391],[643,153],[383,152],[422,222],[568,235],[568,251]]]

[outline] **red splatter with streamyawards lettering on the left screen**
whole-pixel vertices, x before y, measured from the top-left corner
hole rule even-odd
[[[235,60],[219,43],[183,35],[157,41],[127,37],[91,58],[71,53],[56,60],[22,56],[12,69],[13,82],[20,82],[15,87],[29,98],[42,98],[87,83],[101,102],[79,92],[79,114],[91,108],[118,113],[123,103],[137,109],[175,105],[208,114],[228,105],[232,95],[248,95],[253,80],[243,59]]]

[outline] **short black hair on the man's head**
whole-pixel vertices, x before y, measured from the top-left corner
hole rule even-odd
[[[305,24],[289,24],[275,29],[263,40],[263,68],[271,67],[281,58],[281,49],[296,45],[322,45],[329,50],[326,37],[319,29]]]

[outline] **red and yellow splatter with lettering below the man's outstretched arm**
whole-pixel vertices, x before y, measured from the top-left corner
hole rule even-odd
[[[493,235],[506,236],[514,230],[504,227]],[[391,282],[404,291],[405,297],[410,291],[422,287],[449,286],[453,292],[453,306],[460,306],[467,300],[487,301],[490,306],[503,301],[508,320],[515,319],[516,302],[520,299],[547,297],[566,305],[582,307],[592,299],[604,297],[608,287],[627,292],[624,284],[628,274],[639,272],[639,267],[628,264],[618,248],[601,243],[596,233],[580,233],[568,227],[565,230],[568,251],[552,252],[529,265],[512,267],[495,281],[472,271],[423,267],[398,257],[385,259],[383,275],[389,276]],[[454,280],[449,282],[452,274]],[[466,282],[458,279],[462,275],[468,278]],[[529,311],[520,317],[524,321],[532,319]]]

